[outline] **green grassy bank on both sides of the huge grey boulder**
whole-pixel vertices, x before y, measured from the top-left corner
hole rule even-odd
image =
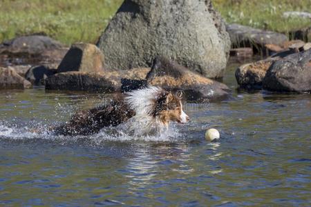
[[[1,0],[0,42],[21,34],[44,32],[63,43],[94,43],[122,0]],[[305,0],[214,0],[228,22],[287,32],[310,20],[282,18],[285,11],[311,11]]]

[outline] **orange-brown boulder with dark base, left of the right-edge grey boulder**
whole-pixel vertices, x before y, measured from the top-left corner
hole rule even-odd
[[[236,81],[240,88],[258,90],[263,88],[263,78],[277,58],[269,58],[254,63],[247,63],[236,69]]]

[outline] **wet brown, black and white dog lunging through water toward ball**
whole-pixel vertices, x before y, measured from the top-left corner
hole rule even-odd
[[[146,135],[169,128],[171,121],[180,124],[189,121],[180,98],[163,88],[147,86],[115,97],[104,106],[77,112],[53,132],[57,135],[93,135],[102,128],[126,123],[131,125],[130,130],[140,128],[140,133]]]

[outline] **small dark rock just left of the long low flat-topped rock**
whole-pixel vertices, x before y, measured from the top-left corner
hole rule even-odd
[[[26,72],[25,78],[30,81],[35,86],[40,86],[45,84],[45,79],[54,75],[56,69],[50,69],[46,66],[34,66],[29,68]]]

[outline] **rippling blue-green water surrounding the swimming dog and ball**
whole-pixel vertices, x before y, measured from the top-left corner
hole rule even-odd
[[[237,92],[235,66],[231,99],[188,103],[191,123],[143,139],[45,132],[109,96],[0,91],[0,206],[310,206],[310,95]]]

